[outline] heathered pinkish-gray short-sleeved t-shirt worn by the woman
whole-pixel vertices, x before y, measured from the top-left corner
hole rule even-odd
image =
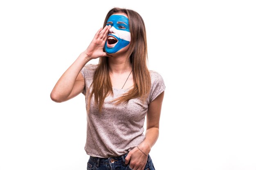
[[[97,65],[87,64],[81,70],[85,78],[85,94],[92,84]],[[91,99],[90,112],[87,110],[87,137],[85,151],[92,157],[118,157],[126,154],[145,139],[144,121],[148,104],[165,89],[164,80],[155,71],[150,71],[151,90],[146,102],[130,99],[127,104],[115,105],[112,100],[126,93],[128,89],[113,88],[114,95],[104,101],[99,113],[94,97]],[[90,91],[89,91],[90,93]],[[88,95],[89,96],[89,95]],[[85,101],[88,101],[85,96]]]

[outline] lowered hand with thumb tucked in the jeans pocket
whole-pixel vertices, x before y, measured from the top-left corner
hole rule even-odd
[[[130,168],[132,170],[144,170],[148,157],[144,155],[137,147],[132,149],[125,158],[125,164],[130,161]]]

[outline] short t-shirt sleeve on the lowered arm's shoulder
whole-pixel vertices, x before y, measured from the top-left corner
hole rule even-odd
[[[149,95],[149,102],[152,102],[158,95],[160,95],[165,90],[163,77],[155,72],[150,71],[151,78],[151,89]]]

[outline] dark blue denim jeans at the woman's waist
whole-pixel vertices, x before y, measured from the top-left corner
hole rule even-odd
[[[127,155],[128,153],[120,157],[111,158],[90,157],[87,163],[87,170],[132,170],[129,165],[125,164]],[[155,170],[149,155],[144,170]]]

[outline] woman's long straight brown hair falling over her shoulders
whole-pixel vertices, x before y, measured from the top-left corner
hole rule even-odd
[[[126,13],[129,19],[131,41],[128,49],[128,56],[132,65],[132,75],[134,86],[123,96],[115,99],[115,104],[128,102],[130,99],[141,98],[146,100],[150,92],[150,73],[147,67],[147,39],[145,24],[139,13],[130,9],[113,8],[106,15],[103,27],[106,26],[108,18],[114,13]],[[108,73],[108,57],[100,57],[99,64],[94,72],[92,91],[88,98],[88,112],[90,110],[90,101],[94,94],[94,101],[99,106],[101,112],[105,98],[111,94],[112,84]]]

